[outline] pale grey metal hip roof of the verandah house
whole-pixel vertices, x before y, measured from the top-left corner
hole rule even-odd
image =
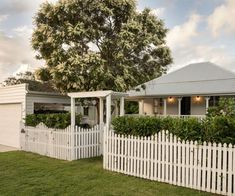
[[[129,96],[235,94],[235,73],[213,63],[195,63],[131,90]]]

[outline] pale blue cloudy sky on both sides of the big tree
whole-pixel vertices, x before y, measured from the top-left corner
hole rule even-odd
[[[0,82],[43,66],[30,38],[33,17],[45,1],[0,0]],[[139,11],[145,7],[169,29],[166,43],[174,61],[169,72],[203,61],[235,71],[235,0],[137,0]]]

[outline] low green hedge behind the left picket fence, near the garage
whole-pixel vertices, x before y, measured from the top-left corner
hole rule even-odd
[[[26,126],[37,126],[39,123],[44,123],[49,128],[65,129],[71,123],[70,113],[56,114],[28,114],[25,118]],[[81,115],[76,115],[76,125],[80,125]]]

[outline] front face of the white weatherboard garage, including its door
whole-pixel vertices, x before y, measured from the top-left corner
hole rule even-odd
[[[20,121],[25,117],[27,85],[0,88],[0,144],[20,147]]]

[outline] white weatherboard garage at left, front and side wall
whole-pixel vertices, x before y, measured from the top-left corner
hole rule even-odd
[[[27,84],[0,87],[0,144],[20,148],[20,122],[33,114],[36,104],[69,105],[58,93],[29,91]]]

